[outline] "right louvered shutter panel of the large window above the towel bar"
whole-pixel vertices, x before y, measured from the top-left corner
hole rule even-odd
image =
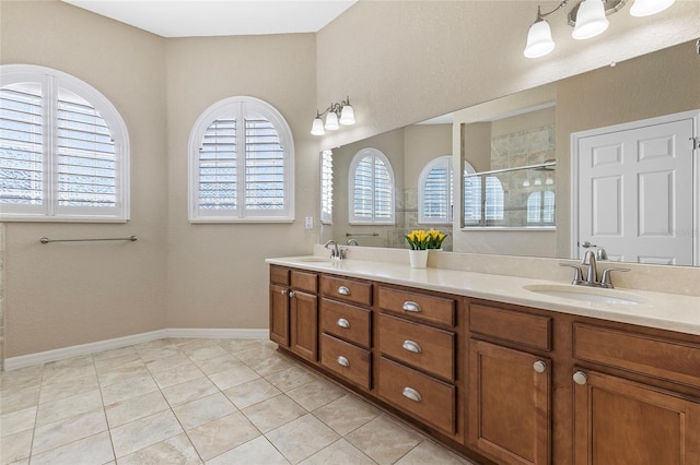
[[[65,90],[59,90],[57,111],[58,206],[116,207],[116,150],[106,121]]]

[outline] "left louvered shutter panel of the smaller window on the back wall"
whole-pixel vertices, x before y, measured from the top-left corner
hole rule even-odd
[[[205,131],[199,150],[199,208],[235,210],[236,120],[222,117]]]

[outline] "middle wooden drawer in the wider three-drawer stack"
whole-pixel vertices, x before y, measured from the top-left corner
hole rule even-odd
[[[380,315],[382,354],[450,381],[455,379],[455,334],[387,314]]]

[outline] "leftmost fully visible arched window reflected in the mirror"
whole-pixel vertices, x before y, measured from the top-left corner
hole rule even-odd
[[[363,148],[350,163],[350,224],[393,225],[394,171],[376,148]]]

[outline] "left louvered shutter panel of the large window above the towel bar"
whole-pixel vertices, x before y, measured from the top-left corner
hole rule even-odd
[[[0,204],[44,203],[44,106],[39,83],[0,88]]]

